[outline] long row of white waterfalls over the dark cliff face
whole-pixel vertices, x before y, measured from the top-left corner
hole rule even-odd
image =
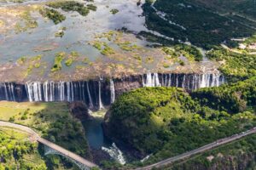
[[[216,87],[225,82],[219,72],[204,74],[150,73],[117,79],[78,82],[0,82],[0,100],[51,102],[82,100],[92,110],[111,105],[126,91],[142,87],[177,87],[187,90]]]

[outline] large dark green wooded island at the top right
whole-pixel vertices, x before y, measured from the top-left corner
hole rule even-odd
[[[161,19],[149,3],[145,3],[143,9],[149,29],[199,47],[210,49],[212,45],[229,41],[232,37],[250,37],[254,33],[241,22],[212,13],[189,1],[157,0],[154,7],[166,14],[166,20]]]

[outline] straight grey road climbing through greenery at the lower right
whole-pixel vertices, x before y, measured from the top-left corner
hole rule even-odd
[[[198,149],[195,149],[195,150],[191,150],[189,152],[185,152],[179,156],[174,156],[174,157],[171,157],[171,158],[168,158],[164,161],[159,161],[157,163],[154,163],[152,165],[148,165],[147,167],[138,167],[136,170],[148,170],[148,169],[152,169],[153,167],[163,167],[163,166],[166,166],[174,161],[179,161],[179,160],[183,160],[184,158],[188,158],[189,156],[193,156],[195,154],[199,154],[201,152],[204,152],[206,150],[211,150],[212,148],[215,148],[217,146],[220,146],[222,144],[227,144],[227,143],[230,143],[234,140],[237,140],[237,139],[241,139],[249,134],[253,134],[253,133],[256,133],[256,127],[253,127],[251,130],[248,130],[247,132],[243,132],[243,133],[239,133],[239,134],[236,134],[236,135],[233,135],[233,136],[230,136],[230,137],[227,137],[227,138],[224,138],[224,139],[218,139],[217,141],[211,143],[211,144],[207,144],[207,145],[204,145]]]

